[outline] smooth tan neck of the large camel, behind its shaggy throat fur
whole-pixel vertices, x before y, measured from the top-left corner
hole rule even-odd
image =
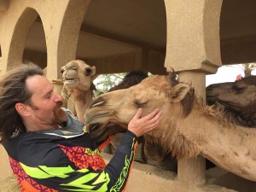
[[[192,112],[177,124],[177,130],[208,160],[236,175],[256,181],[256,146],[253,144],[256,134],[252,128]]]

